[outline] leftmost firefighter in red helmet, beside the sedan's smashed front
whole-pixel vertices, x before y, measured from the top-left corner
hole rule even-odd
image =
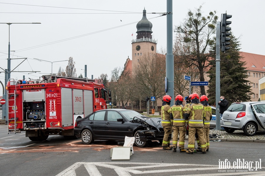
[[[162,142],[163,150],[172,150],[172,146],[170,146],[173,124],[173,116],[170,107],[171,99],[170,95],[163,96],[163,103],[161,107],[161,122],[165,132]]]

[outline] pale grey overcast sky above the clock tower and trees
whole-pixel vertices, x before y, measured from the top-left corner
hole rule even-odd
[[[229,20],[232,21],[233,34],[241,36],[241,51],[265,55],[262,44],[264,23],[261,21],[265,14],[264,1],[232,0],[226,3],[229,6],[215,0],[173,0],[173,26],[183,22],[188,9],[194,10],[200,5],[203,15],[216,11],[218,21],[227,11],[232,15]],[[165,49],[166,16],[149,14],[167,12],[165,0],[2,0],[0,23],[42,23],[10,25],[10,57],[28,58],[14,71],[40,71],[13,72],[11,78],[22,79],[25,75],[27,80],[37,79],[51,73],[51,66],[53,73],[57,73],[59,67],[65,69],[68,62],[50,62],[68,60],[69,57],[75,61],[77,75],[82,73],[84,76],[86,64],[88,78],[91,75],[98,78],[101,73],[107,73],[110,78],[111,71],[123,67],[128,56],[132,56],[131,41],[136,38],[136,24],[142,19],[144,8],[153,24],[152,35],[158,41],[157,50]],[[0,24],[0,31],[0,67],[7,68],[8,25]],[[11,70],[21,61],[23,59],[11,60]],[[0,72],[0,80],[4,83],[4,72]]]

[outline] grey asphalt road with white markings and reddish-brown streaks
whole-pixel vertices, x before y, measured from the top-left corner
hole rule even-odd
[[[110,148],[116,146],[123,143],[95,141],[83,145],[81,140],[65,140],[57,135],[36,142],[26,138],[24,132],[7,134],[6,125],[0,125],[0,173],[9,176],[212,176],[264,175],[265,172],[264,143],[210,142],[209,152],[193,155],[161,150],[161,146],[153,143],[144,148],[134,146],[134,155],[128,161],[112,161]]]

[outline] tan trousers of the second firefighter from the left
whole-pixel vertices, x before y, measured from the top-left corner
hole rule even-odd
[[[178,143],[178,134],[179,134],[179,143]],[[186,126],[173,126],[173,148],[184,149],[185,143],[185,134],[186,134]]]

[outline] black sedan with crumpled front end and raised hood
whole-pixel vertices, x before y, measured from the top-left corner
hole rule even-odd
[[[145,147],[149,141],[163,141],[164,130],[161,118],[149,118],[134,110],[98,110],[85,118],[77,119],[74,135],[84,144],[94,140],[124,141],[125,136],[135,137],[138,147]]]

